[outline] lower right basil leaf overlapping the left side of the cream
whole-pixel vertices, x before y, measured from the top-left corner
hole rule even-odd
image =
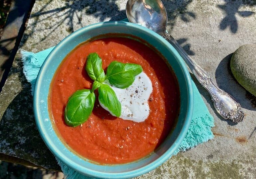
[[[121,115],[121,103],[116,97],[116,93],[110,86],[102,84],[98,88],[99,102],[103,105],[103,108],[107,108],[112,116],[119,117]]]

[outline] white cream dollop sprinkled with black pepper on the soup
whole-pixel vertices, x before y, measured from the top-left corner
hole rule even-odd
[[[104,81],[104,83],[110,85],[108,80]],[[148,99],[153,88],[151,80],[146,73],[142,72],[138,74],[132,85],[128,88],[121,89],[113,85],[110,85],[110,87],[115,91],[117,99],[121,103],[122,112],[119,118],[138,123],[148,118],[150,112]],[[109,111],[101,103],[100,105]]]

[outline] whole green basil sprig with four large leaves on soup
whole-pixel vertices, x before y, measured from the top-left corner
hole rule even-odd
[[[97,53],[90,53],[87,56],[85,70],[94,80],[92,89],[78,90],[68,98],[64,111],[65,123],[68,126],[76,127],[87,121],[94,107],[96,89],[99,92],[100,104],[113,116],[119,117],[121,103],[114,90],[109,85],[103,84],[103,81],[108,79],[110,84],[118,88],[127,88],[134,82],[135,76],[142,72],[142,67],[138,64],[113,61],[108,66],[105,76],[102,59]]]

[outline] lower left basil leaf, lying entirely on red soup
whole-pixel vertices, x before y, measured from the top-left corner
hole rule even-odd
[[[78,90],[69,97],[64,111],[65,123],[76,127],[90,116],[95,102],[95,94],[89,89]]]

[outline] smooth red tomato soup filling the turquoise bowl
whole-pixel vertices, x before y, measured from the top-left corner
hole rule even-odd
[[[85,71],[86,58],[96,52],[106,71],[110,62],[136,63],[152,82],[148,100],[150,114],[136,123],[112,116],[96,101],[88,120],[78,127],[64,122],[68,97],[91,89],[93,80]],[[70,150],[89,160],[118,164],[138,160],[153,152],[174,128],[180,109],[180,91],[172,69],[156,50],[127,38],[104,38],[78,45],[63,60],[52,80],[49,109],[56,131]]]

